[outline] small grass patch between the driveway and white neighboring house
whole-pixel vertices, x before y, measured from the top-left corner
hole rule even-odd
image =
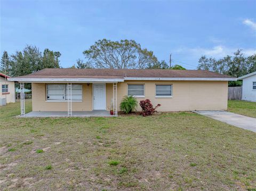
[[[228,111],[256,118],[256,102],[229,100]]]

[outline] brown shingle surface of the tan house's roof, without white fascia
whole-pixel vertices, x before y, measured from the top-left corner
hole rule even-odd
[[[161,69],[43,69],[18,78],[233,78],[207,70]]]

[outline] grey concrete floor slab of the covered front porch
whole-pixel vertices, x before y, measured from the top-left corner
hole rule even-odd
[[[47,117],[68,117],[67,111],[32,111],[26,113],[22,118],[47,118]],[[113,117],[109,111],[73,111],[72,117]]]

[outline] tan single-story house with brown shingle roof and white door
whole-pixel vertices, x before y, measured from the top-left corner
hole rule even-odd
[[[161,104],[157,111],[227,110],[228,81],[235,80],[206,70],[161,69],[43,69],[9,79],[21,88],[32,83],[33,111],[68,115],[110,107],[117,115],[126,95]]]

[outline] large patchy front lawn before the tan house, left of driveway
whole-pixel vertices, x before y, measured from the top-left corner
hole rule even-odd
[[[256,189],[256,134],[202,115],[36,119],[13,118],[19,103],[0,109],[0,190]]]

